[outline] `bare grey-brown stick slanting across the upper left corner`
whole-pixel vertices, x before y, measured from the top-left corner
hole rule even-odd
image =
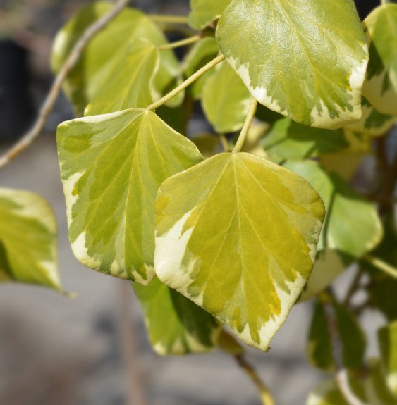
[[[32,142],[39,137],[42,133],[45,123],[47,122],[47,118],[49,113],[51,113],[52,108],[54,108],[54,104],[56,99],[58,98],[59,92],[61,91],[61,86],[63,81],[66,79],[66,76],[70,72],[70,70],[75,66],[80,58],[80,55],[83,53],[85,46],[87,46],[88,42],[97,35],[97,33],[106,27],[111,20],[113,20],[130,0],[118,0],[115,4],[114,8],[109,11],[106,15],[104,15],[100,20],[97,20],[96,23],[90,25],[90,27],[85,30],[83,35],[80,37],[78,42],[73,46],[71,53],[69,54],[68,58],[66,59],[65,63],[61,70],[59,70],[58,75],[56,75],[53,85],[47,94],[47,98],[44,101],[42,108],[39,111],[39,116],[32,126],[32,128],[18,141],[9,151],[6,152],[3,156],[0,157],[0,168],[4,168],[8,163],[10,163],[13,158],[16,158],[22,151],[32,144]]]

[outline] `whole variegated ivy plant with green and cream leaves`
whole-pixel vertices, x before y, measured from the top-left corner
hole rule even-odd
[[[187,18],[124,8],[64,77],[76,118],[56,138],[76,258],[130,280],[161,355],[268,351],[314,299],[307,356],[331,377],[307,404],[397,404],[397,5],[364,21],[353,0],[190,5]],[[55,73],[111,9],[72,16]],[[369,159],[372,183],[357,189]],[[61,290],[47,204],[0,189],[0,217],[1,280]],[[332,283],[351,266],[338,300]],[[365,356],[367,309],[385,316],[379,359]]]

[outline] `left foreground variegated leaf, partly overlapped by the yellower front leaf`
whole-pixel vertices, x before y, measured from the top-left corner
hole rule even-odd
[[[62,123],[57,138],[75,256],[94,270],[147,285],[154,277],[157,190],[200,162],[200,152],[140,108]]]

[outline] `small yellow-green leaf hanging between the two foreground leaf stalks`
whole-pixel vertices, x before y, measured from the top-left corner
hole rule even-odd
[[[250,110],[252,96],[227,62],[222,62],[202,89],[202,107],[216,132],[240,130]]]

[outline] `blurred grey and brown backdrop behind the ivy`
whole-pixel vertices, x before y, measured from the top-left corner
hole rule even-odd
[[[35,118],[51,85],[52,39],[87,2],[0,0],[0,151],[23,135]],[[362,18],[378,4],[356,3]],[[149,13],[189,12],[188,0],[141,0],[134,5]],[[252,382],[226,354],[154,354],[128,282],[75,260],[68,243],[55,142],[56,126],[71,118],[71,108],[61,96],[44,135],[0,172],[1,187],[38,192],[50,201],[59,220],[62,284],[77,294],[68,299],[39,287],[0,286],[0,404],[259,404]],[[203,125],[200,119],[197,111],[196,125]],[[348,278],[349,272],[337,280],[340,294]],[[311,311],[310,302],[295,306],[268,354],[248,349],[250,361],[279,405],[305,404],[307,394],[324,378],[305,359]],[[126,328],[125,319],[132,320],[132,328]],[[377,314],[365,314],[364,326],[372,335],[380,324]],[[370,354],[376,351],[369,342]]]

